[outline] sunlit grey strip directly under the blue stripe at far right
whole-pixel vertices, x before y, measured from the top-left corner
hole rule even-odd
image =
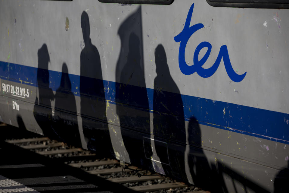
[[[288,164],[288,145],[276,141],[256,138],[232,131],[216,130],[213,127],[199,125],[200,142],[195,143],[196,138],[193,132],[189,137],[194,141],[189,141],[192,145],[209,147],[216,149],[218,153],[248,160],[250,162],[281,169]]]

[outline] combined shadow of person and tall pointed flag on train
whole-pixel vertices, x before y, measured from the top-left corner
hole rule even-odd
[[[120,25],[118,30],[121,48],[116,67],[115,100],[119,116],[122,140],[135,165],[150,167],[151,160],[144,158],[142,134],[150,134],[148,94],[144,79],[141,7]],[[150,147],[150,144],[148,145]],[[139,161],[139,158],[144,158]]]

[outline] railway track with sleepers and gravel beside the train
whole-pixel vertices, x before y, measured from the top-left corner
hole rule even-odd
[[[193,185],[177,182],[169,177],[160,176],[157,173],[151,173],[136,166],[127,165],[125,166],[126,169],[123,169],[118,160],[109,158],[100,159],[94,152],[71,147],[63,142],[50,140],[45,137],[8,139],[5,142],[51,159],[59,160],[68,166],[82,169],[89,174],[102,177],[110,182],[122,184],[134,191],[154,193],[207,192]]]

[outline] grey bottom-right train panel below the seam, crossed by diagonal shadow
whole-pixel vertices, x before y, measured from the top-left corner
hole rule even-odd
[[[217,164],[218,180],[225,184],[226,191],[274,192],[285,190],[285,184],[278,186],[280,179],[276,176],[280,176],[281,171],[276,169],[221,154],[217,154]],[[281,179],[281,182],[284,181]],[[276,184],[274,185],[274,183]]]

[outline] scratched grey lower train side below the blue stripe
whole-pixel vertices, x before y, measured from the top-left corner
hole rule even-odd
[[[31,87],[31,86],[30,86]],[[77,97],[76,97],[77,98]],[[189,128],[193,128],[191,130],[191,134],[189,134],[189,143],[191,146],[185,146],[184,144],[179,144],[175,143],[173,141],[168,141],[163,138],[157,138],[154,137],[154,140],[151,142],[154,142],[153,144],[146,144],[143,142],[144,136],[146,138],[152,138],[149,137],[150,135],[148,134],[143,134],[139,132],[135,132],[132,134],[130,130],[127,129],[120,129],[119,127],[113,125],[111,123],[108,126],[108,129],[110,130],[110,140],[106,136],[109,134],[107,133],[107,126],[104,125],[101,122],[95,122],[92,121],[91,119],[82,119],[82,122],[77,122],[75,119],[73,119],[73,116],[71,114],[65,113],[65,112],[60,112],[57,113],[56,111],[54,115],[52,115],[49,118],[49,108],[41,107],[41,109],[35,109],[34,104],[31,103],[26,103],[22,100],[17,100],[17,99],[11,99],[10,97],[1,97],[1,108],[6,109],[6,111],[9,112],[9,114],[4,114],[2,115],[2,121],[4,122],[10,122],[10,124],[15,125],[15,126],[20,126],[23,127],[25,126],[26,128],[34,128],[36,129],[34,132],[38,133],[45,133],[45,131],[49,132],[49,130],[45,130],[46,128],[43,127],[42,125],[42,130],[39,130],[40,128],[36,124],[36,120],[40,120],[39,118],[35,120],[34,117],[31,117],[30,112],[34,111],[35,116],[39,117],[41,116],[42,119],[50,119],[52,127],[58,125],[57,121],[64,121],[66,125],[60,125],[61,128],[65,128],[65,130],[62,129],[61,132],[66,132],[66,133],[73,133],[73,128],[75,128],[75,125],[78,125],[79,131],[81,131],[81,124],[85,124],[85,129],[83,129],[83,134],[82,140],[86,138],[86,143],[85,145],[88,146],[89,149],[91,150],[97,150],[100,145],[105,145],[105,147],[110,148],[110,141],[113,149],[113,153],[115,156],[120,159],[124,160],[128,163],[136,163],[139,165],[145,164],[146,166],[150,167],[151,169],[156,170],[157,172],[160,173],[165,173],[167,175],[173,175],[173,176],[179,176],[179,178],[188,179],[190,183],[195,183],[199,185],[204,185],[202,182],[212,182],[216,183],[214,181],[214,178],[216,177],[217,179],[220,179],[218,175],[221,175],[224,180],[225,188],[230,190],[232,189],[232,183],[235,183],[235,186],[239,188],[246,186],[250,190],[260,190],[260,188],[264,188],[266,190],[271,190],[272,189],[272,184],[269,186],[269,189],[267,188],[267,181],[260,180],[260,182],[256,183],[256,179],[254,180],[248,180],[244,179],[244,176],[247,176],[247,174],[242,174],[243,171],[250,171],[250,174],[253,176],[264,176],[264,175],[259,175],[258,172],[260,171],[265,171],[268,173],[267,175],[271,176],[270,179],[272,181],[276,180],[275,179],[275,174],[277,175],[278,172],[276,169],[282,169],[287,166],[287,161],[286,157],[283,158],[282,155],[284,153],[286,154],[286,145],[281,144],[281,143],[274,143],[269,140],[265,139],[258,139],[254,138],[251,136],[247,136],[244,134],[236,134],[235,132],[232,131],[225,131],[225,130],[220,130],[218,133],[215,133],[216,131],[215,128],[213,127],[208,127],[207,128],[203,127],[202,125],[197,125],[197,123],[193,122],[190,123],[188,122],[187,124],[193,124]],[[8,103],[7,103],[8,100]],[[22,106],[19,111],[13,109],[13,105],[11,104],[13,101],[17,102],[19,106]],[[113,106],[115,105],[110,105],[110,110],[113,109]],[[116,107],[114,107],[116,108]],[[21,115],[21,116],[20,116]],[[78,118],[78,121],[81,120],[81,118]],[[45,123],[45,121],[42,121]],[[54,124],[53,124],[54,123]],[[38,124],[41,126],[41,122],[38,122]],[[57,130],[57,127],[54,127],[54,131],[56,131],[59,134],[59,129]],[[101,131],[101,132],[98,132]],[[222,132],[223,131],[223,132]],[[51,132],[51,131],[50,131]],[[46,133],[47,134],[47,133]],[[99,134],[95,136],[94,134]],[[64,135],[61,135],[64,136]],[[217,137],[216,137],[217,136]],[[219,139],[217,139],[219,138]],[[70,136],[69,139],[73,139],[72,136]],[[64,139],[65,140],[65,139]],[[234,144],[232,141],[236,140],[236,144]],[[160,142],[156,142],[160,141]],[[216,142],[215,142],[216,141]],[[220,142],[222,141],[222,142]],[[124,144],[131,144],[133,143],[134,145],[126,145]],[[162,153],[159,153],[160,147],[159,144],[166,143],[166,148],[168,153],[164,153],[165,151],[162,151]],[[219,144],[222,146],[225,146],[226,148],[222,148],[224,151],[217,151],[214,152],[214,149],[220,149]],[[266,144],[266,145],[264,145]],[[148,145],[154,145],[154,149],[157,151],[156,153],[152,154],[151,159],[149,154],[145,154],[143,152],[146,151],[146,146]],[[274,146],[275,145],[275,146]],[[244,148],[243,148],[244,146]],[[248,146],[246,148],[245,146]],[[260,147],[262,146],[262,147]],[[273,148],[272,148],[273,146]],[[197,147],[202,147],[202,149],[197,148]],[[269,149],[272,148],[272,149]],[[278,149],[276,149],[278,148]],[[281,149],[284,149],[283,151]],[[233,150],[232,150],[233,149]],[[161,148],[161,150],[163,150]],[[238,153],[235,153],[238,152]],[[149,152],[149,150],[148,150]],[[153,153],[153,152],[152,152]],[[158,154],[159,153],[159,154]],[[216,155],[217,153],[217,155]],[[224,159],[223,157],[227,158],[228,156],[225,156],[224,154],[228,154],[229,160]],[[274,155],[274,159],[272,164],[270,163],[270,157],[271,154]],[[279,155],[280,154],[280,157]],[[231,157],[234,156],[235,158]],[[278,156],[278,157],[276,157]],[[164,161],[163,158],[168,159],[168,161]],[[216,158],[216,159],[215,159]],[[283,158],[283,159],[282,159]],[[165,159],[165,160],[166,160]],[[254,160],[256,159],[256,160]],[[277,161],[276,161],[277,159]],[[185,160],[185,164],[182,164]],[[219,165],[219,167],[222,166],[228,166],[231,163],[234,164],[234,168],[229,169],[223,168],[224,171],[222,172],[216,172],[217,169],[215,167],[216,161],[217,160],[222,160],[222,164]],[[238,162],[241,160],[249,160],[250,164],[252,167],[249,167],[247,162],[246,164],[243,164],[242,167]],[[288,160],[288,158],[287,158]],[[159,162],[158,162],[159,161]],[[280,165],[279,165],[279,162]],[[283,161],[283,162],[282,162]],[[241,161],[244,162],[244,161]],[[153,165],[151,165],[153,164]],[[264,166],[267,165],[267,166]],[[180,167],[183,166],[183,167]],[[201,167],[200,167],[201,166]],[[268,167],[269,166],[269,167]],[[269,168],[269,169],[268,169]],[[276,169],[272,169],[276,168]],[[272,171],[273,173],[272,173]],[[249,172],[248,171],[248,172]],[[179,174],[182,173],[183,176],[180,176]],[[207,175],[210,174],[210,175]],[[224,175],[223,175],[224,174]],[[286,172],[285,172],[286,174]],[[247,176],[248,177],[248,176]],[[246,178],[247,178],[246,177]],[[250,177],[250,176],[249,176]],[[232,180],[234,178],[234,181]],[[263,178],[263,177],[262,177]],[[258,180],[258,181],[259,181]],[[268,180],[268,179],[266,179]],[[281,177],[282,180],[282,177]],[[278,181],[278,179],[277,179]],[[266,182],[266,183],[264,183]],[[219,183],[219,181],[218,181]],[[220,182],[221,183],[221,182]],[[218,186],[215,186],[216,188],[222,188],[220,186],[220,183]],[[262,189],[263,190],[263,189]]]

